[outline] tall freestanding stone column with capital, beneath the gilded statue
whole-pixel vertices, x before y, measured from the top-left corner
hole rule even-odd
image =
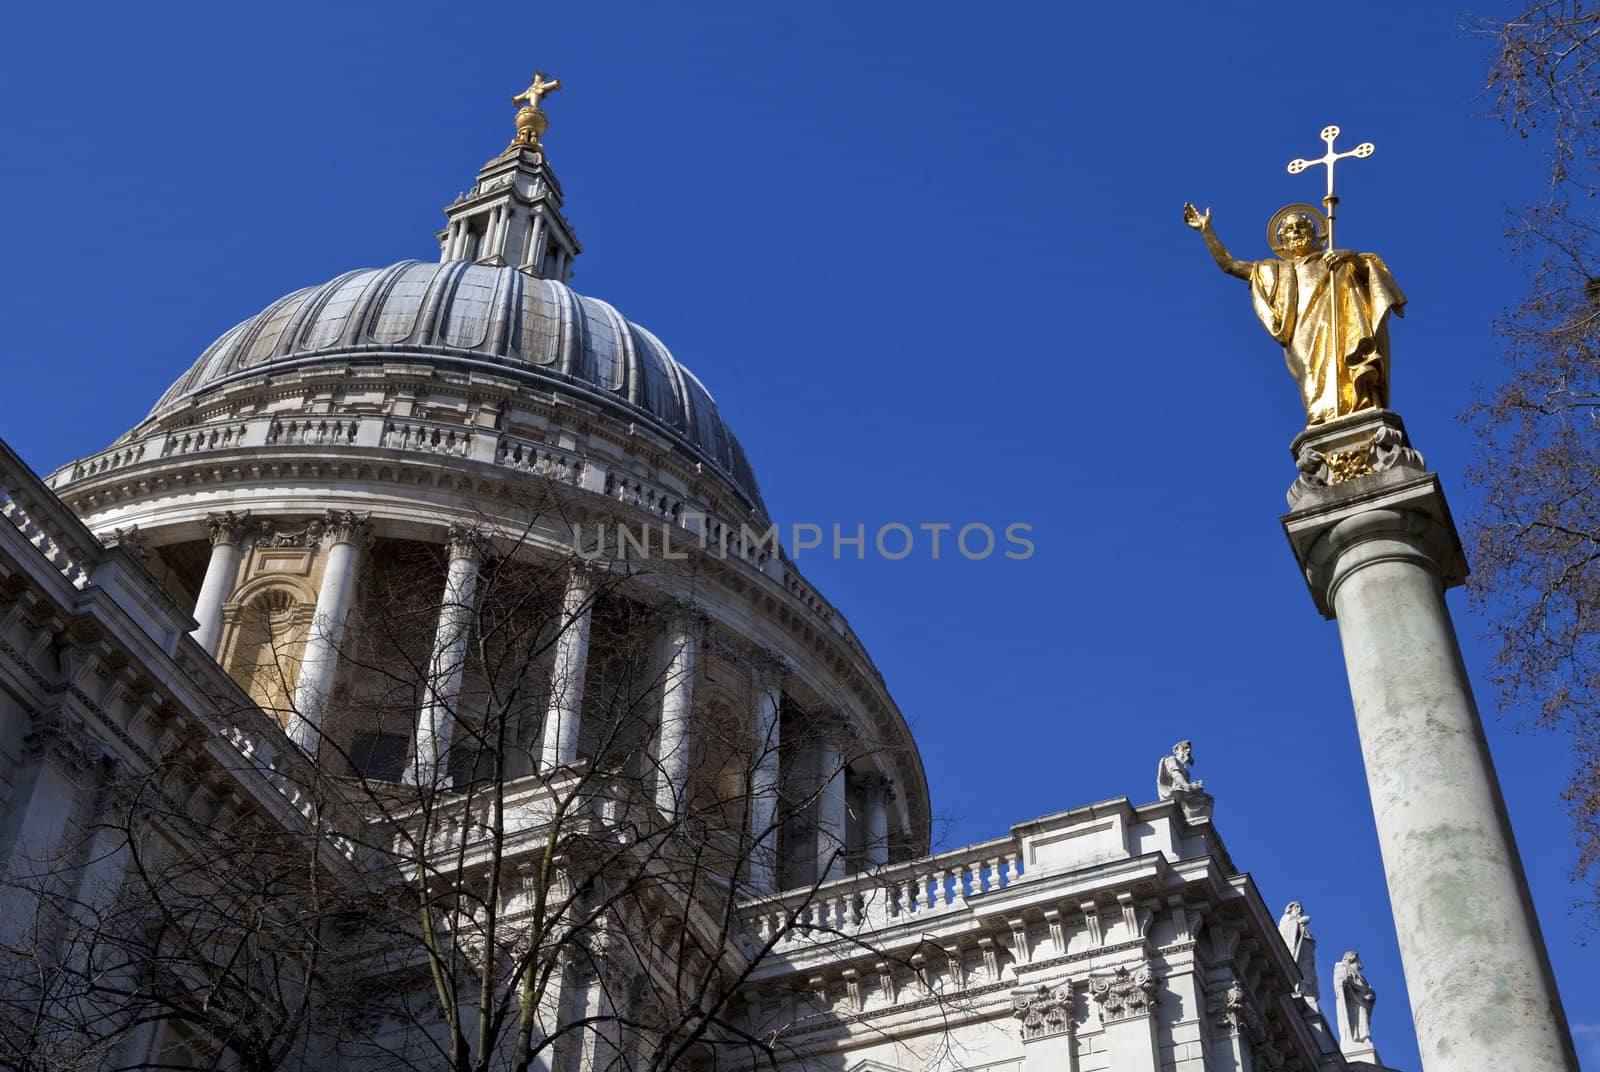
[[[1456,643],[1438,477],[1378,411],[1294,442],[1283,518],[1339,622],[1422,1067],[1568,1069],[1566,1016]]]

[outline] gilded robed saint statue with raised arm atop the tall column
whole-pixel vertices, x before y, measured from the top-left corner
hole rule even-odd
[[[1280,210],[1267,226],[1278,256],[1240,261],[1211,229],[1211,210],[1184,205],[1216,266],[1250,283],[1261,326],[1278,346],[1306,403],[1306,424],[1389,406],[1389,314],[1405,294],[1374,253],[1323,250],[1320,213]]]

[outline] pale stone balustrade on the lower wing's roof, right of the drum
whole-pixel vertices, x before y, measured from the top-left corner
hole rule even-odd
[[[747,902],[741,918],[760,944],[854,938],[917,923],[965,907],[974,898],[1022,880],[1022,853],[1005,837],[939,856],[837,878]]]

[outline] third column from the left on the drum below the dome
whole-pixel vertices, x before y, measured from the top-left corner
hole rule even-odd
[[[448,774],[443,758],[456,728],[456,701],[461,696],[461,674],[472,632],[480,536],[470,525],[451,525],[448,547],[450,566],[438,605],[438,627],[434,630],[434,653],[422,683],[422,710],[416,720],[416,754],[406,776],[413,786],[434,786],[440,776]]]

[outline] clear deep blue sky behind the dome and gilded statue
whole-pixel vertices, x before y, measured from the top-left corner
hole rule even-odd
[[[40,470],[134,424],[232,323],[434,259],[538,66],[586,253],[574,286],[717,395],[774,517],[1032,525],[1037,554],[802,557],[922,742],[950,846],[1154,797],[1194,738],[1235,861],[1358,949],[1418,1069],[1336,626],[1278,525],[1301,411],[1181,206],[1266,256],[1291,157],[1341,166],[1341,245],[1410,298],[1394,403],[1474,496],[1474,384],[1523,272],[1539,149],[1482,112],[1450,5],[26,5],[0,67],[6,418]],[[1586,1067],[1557,736],[1518,733],[1451,595]]]

